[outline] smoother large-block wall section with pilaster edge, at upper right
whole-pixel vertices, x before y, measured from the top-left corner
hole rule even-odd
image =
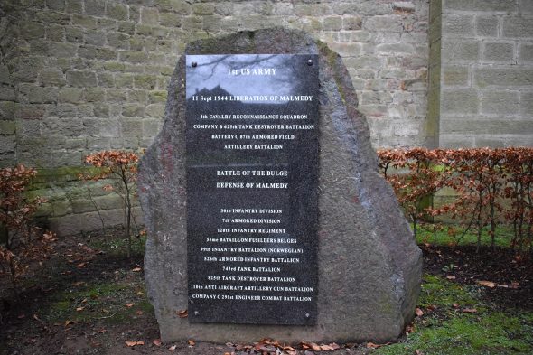
[[[533,145],[533,1],[431,7],[428,122],[440,119],[438,144]]]

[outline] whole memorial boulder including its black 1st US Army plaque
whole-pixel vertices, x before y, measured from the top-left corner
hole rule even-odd
[[[139,194],[164,341],[390,341],[413,317],[421,252],[341,58],[303,32],[189,44]]]

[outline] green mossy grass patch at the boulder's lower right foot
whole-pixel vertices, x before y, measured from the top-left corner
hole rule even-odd
[[[456,285],[442,277],[426,274],[416,318],[415,331],[405,341],[371,353],[383,355],[422,354],[530,354],[533,353],[533,313],[501,312],[483,304],[475,286]],[[458,306],[454,306],[458,304]],[[434,311],[427,309],[435,307]],[[463,313],[475,308],[476,313]]]

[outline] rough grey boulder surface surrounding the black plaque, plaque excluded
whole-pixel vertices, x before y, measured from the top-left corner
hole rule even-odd
[[[317,53],[320,78],[319,292],[315,326],[190,323],[187,307],[184,57],[170,81],[164,127],[142,159],[139,192],[151,238],[145,279],[164,341],[389,341],[416,306],[421,252],[380,177],[369,127],[341,57],[286,29],[193,42],[188,54]]]

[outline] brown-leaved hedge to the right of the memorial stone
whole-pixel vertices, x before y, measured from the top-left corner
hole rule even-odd
[[[478,235],[489,226],[494,247],[497,224],[513,226],[512,247],[533,253],[533,148],[472,148],[381,150],[381,173],[416,226],[446,215],[463,223],[463,231],[448,228],[459,241],[470,229]],[[394,170],[394,172],[391,172]],[[454,189],[454,201],[435,207],[432,196],[444,187]],[[510,201],[505,206],[502,201]],[[430,201],[427,203],[427,201]],[[438,224],[429,224],[436,231]]]

